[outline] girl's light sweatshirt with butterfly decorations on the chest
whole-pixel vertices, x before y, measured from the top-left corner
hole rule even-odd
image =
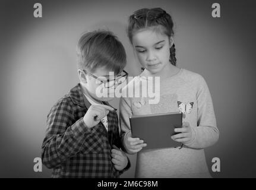
[[[125,87],[140,88],[144,77],[135,77]],[[154,88],[147,83],[147,89]],[[133,85],[133,86],[132,86]],[[157,88],[154,88],[157,90]],[[158,93],[155,91],[155,93]],[[135,177],[137,178],[208,178],[204,149],[219,139],[213,102],[206,81],[201,75],[186,69],[161,80],[159,103],[149,103],[149,97],[121,97],[120,125],[124,147],[131,132],[129,116],[154,113],[182,112],[192,128],[191,141],[184,147],[143,149],[137,154]],[[142,102],[142,103],[141,103]],[[160,126],[156,126],[160,130]],[[157,140],[156,140],[157,141]],[[129,153],[129,150],[127,149]]]

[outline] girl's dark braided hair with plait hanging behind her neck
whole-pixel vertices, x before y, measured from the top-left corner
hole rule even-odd
[[[132,36],[136,31],[146,29],[148,27],[159,26],[162,26],[161,28],[163,29],[163,33],[165,33],[168,37],[173,36],[172,17],[170,17],[170,15],[162,8],[143,8],[135,11],[134,14],[129,16],[128,20],[127,33],[130,42],[132,43]],[[172,65],[176,65],[174,43],[172,47],[170,47],[169,61]]]

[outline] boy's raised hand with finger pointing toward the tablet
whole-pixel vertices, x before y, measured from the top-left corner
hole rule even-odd
[[[84,115],[84,123],[88,128],[99,124],[99,122],[108,115],[109,111],[113,111],[113,107],[108,105],[91,105]]]

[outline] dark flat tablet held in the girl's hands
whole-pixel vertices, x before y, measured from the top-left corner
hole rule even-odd
[[[179,147],[181,143],[173,141],[170,136],[177,134],[174,128],[182,126],[182,113],[161,113],[129,117],[133,138],[140,138],[151,148]]]

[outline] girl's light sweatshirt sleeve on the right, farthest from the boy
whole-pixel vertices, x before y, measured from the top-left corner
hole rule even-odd
[[[219,139],[219,129],[213,109],[211,94],[203,77],[200,76],[197,91],[197,126],[192,126],[192,139],[185,143],[191,148],[206,148]]]

